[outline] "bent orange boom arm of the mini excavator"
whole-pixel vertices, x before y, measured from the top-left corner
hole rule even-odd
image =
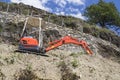
[[[50,42],[49,43],[50,46],[47,47],[45,49],[45,51],[47,52],[47,51],[50,51],[50,50],[52,50],[54,48],[57,48],[57,47],[59,47],[59,46],[61,46],[63,44],[71,44],[71,43],[75,44],[75,45],[82,46],[89,55],[93,54],[93,52],[88,47],[86,41],[84,41],[84,40],[79,41],[78,39],[72,38],[70,36],[65,36],[64,38],[62,38],[60,40],[56,40],[56,41]]]

